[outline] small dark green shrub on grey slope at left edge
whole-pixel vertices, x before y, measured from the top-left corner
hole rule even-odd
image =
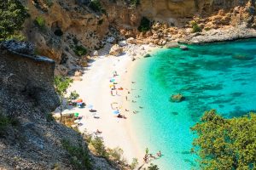
[[[4,116],[0,113],[0,137],[4,136],[7,132],[6,130],[9,127],[17,127],[19,125],[19,121],[11,116]]]

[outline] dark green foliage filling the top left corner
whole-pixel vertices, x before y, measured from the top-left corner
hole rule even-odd
[[[27,9],[18,0],[0,1],[0,41],[20,37]]]

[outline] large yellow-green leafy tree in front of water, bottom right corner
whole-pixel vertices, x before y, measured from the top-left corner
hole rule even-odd
[[[200,156],[202,169],[256,168],[256,114],[225,119],[206,111],[191,127],[196,133],[192,152]]]

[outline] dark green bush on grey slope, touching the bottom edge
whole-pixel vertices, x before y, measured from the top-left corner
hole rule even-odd
[[[70,162],[76,169],[92,169],[88,150],[84,149],[82,144],[79,144],[79,146],[74,146],[67,140],[62,140],[61,144],[63,148],[69,153]]]

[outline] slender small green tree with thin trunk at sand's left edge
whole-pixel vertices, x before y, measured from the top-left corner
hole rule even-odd
[[[62,110],[63,110],[63,99],[65,94],[67,94],[67,88],[69,87],[70,83],[73,82],[72,79],[69,77],[55,77],[55,91],[60,96],[61,101],[61,121],[62,121]]]

